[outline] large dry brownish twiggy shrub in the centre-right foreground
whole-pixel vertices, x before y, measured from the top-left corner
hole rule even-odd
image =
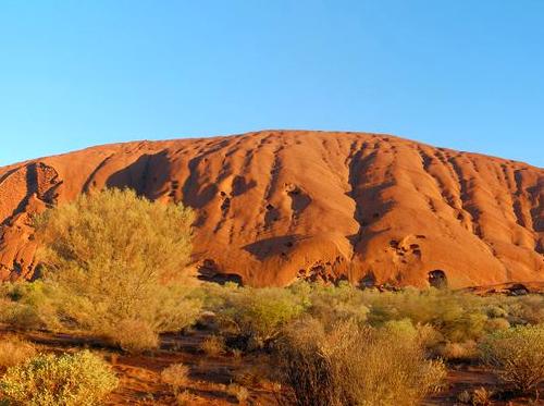
[[[279,345],[281,380],[296,405],[413,405],[445,377],[413,340],[387,330],[314,319],[290,325]]]

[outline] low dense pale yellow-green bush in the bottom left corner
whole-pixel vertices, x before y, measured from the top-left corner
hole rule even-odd
[[[0,380],[3,395],[15,405],[98,405],[118,385],[110,367],[89,352],[39,355],[8,369]]]

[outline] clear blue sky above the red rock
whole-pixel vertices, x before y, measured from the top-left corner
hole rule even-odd
[[[544,1],[0,0],[0,165],[263,128],[544,167]]]

